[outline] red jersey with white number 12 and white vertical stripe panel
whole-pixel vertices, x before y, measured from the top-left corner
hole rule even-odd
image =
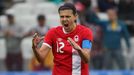
[[[81,47],[83,40],[93,40],[92,31],[82,25],[77,25],[71,33],[65,33],[62,26],[49,30],[44,44],[52,48],[54,55],[52,75],[89,75],[88,63],[84,63],[78,52],[73,49],[67,41],[68,37]]]

